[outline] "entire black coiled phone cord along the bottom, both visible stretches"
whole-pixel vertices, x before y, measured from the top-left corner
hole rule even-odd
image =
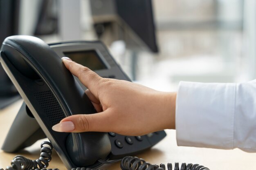
[[[48,147],[47,147],[48,146]],[[8,166],[5,170],[58,170],[55,169],[47,169],[49,166],[49,162],[52,160],[52,149],[53,146],[50,142],[44,141],[41,143],[40,157],[36,160],[27,159],[21,155],[17,155],[11,161],[11,166]],[[152,165],[143,159],[139,159],[137,157],[124,157],[119,160],[112,161],[103,161],[98,160],[101,163],[114,163],[117,161],[121,161],[120,167],[122,170],[165,170],[166,167],[163,163],[158,165]],[[0,168],[0,170],[4,170]],[[71,170],[99,170],[93,168],[72,168]],[[209,170],[204,166],[192,163],[182,163],[181,168],[179,168],[179,163],[175,163],[174,169],[171,163],[167,164],[167,170]]]

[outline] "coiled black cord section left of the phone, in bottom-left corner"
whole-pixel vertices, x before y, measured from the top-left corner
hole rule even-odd
[[[52,160],[53,146],[50,142],[44,141],[41,143],[40,157],[36,160],[27,159],[21,155],[17,155],[11,161],[11,166],[7,166],[5,170],[58,170],[46,169],[49,162]],[[0,170],[2,170],[0,168]]]

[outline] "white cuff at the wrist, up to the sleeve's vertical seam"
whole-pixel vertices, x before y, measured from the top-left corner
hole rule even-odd
[[[180,82],[177,145],[233,149],[235,93],[233,83]]]

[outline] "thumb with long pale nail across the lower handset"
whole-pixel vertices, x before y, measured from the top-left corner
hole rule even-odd
[[[52,126],[57,132],[112,132],[113,125],[109,109],[95,114],[72,115],[65,117],[60,123]]]

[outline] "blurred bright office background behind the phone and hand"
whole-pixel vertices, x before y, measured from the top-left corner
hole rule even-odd
[[[101,40],[134,82],[160,91],[256,78],[253,0],[0,0],[0,42],[16,34]],[[0,68],[0,96],[14,94]]]

